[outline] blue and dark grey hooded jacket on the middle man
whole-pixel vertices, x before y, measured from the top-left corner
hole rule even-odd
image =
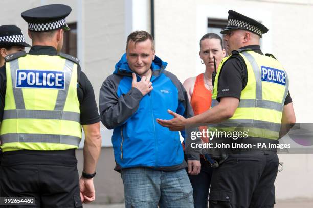
[[[171,171],[186,167],[179,133],[156,121],[173,118],[167,109],[184,117],[193,115],[185,88],[175,75],[165,71],[166,66],[155,56],[150,67],[153,90],[143,96],[131,87],[132,71],[124,54],[101,86],[101,121],[108,129],[114,129],[112,144],[119,168]],[[140,80],[137,75],[137,81]],[[197,160],[198,155],[189,155],[188,159]]]

